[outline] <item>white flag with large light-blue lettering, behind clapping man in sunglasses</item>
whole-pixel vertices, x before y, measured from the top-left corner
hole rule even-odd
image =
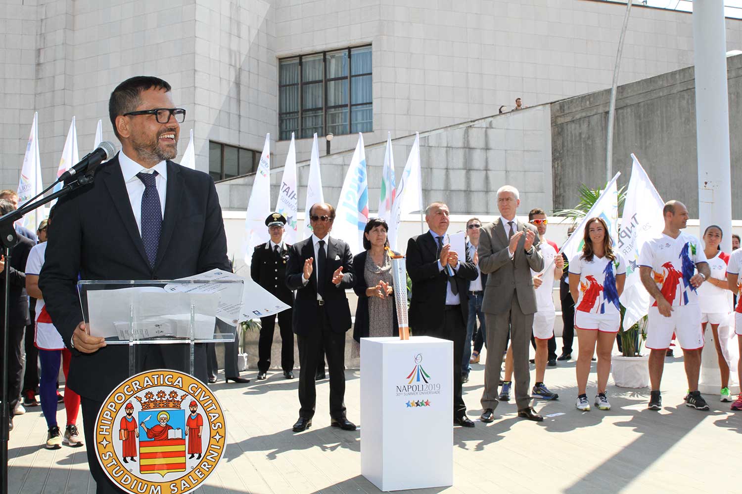
[[[347,242],[353,255],[364,249],[361,238],[369,221],[369,187],[366,175],[364,136],[358,133],[358,144],[350,159],[350,167],[338,200],[332,233]]]

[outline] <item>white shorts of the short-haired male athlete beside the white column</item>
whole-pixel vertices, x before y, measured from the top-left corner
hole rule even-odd
[[[683,350],[703,348],[703,330],[700,327],[700,305],[672,307],[670,317],[660,314],[656,306],[649,307],[646,347],[665,350],[670,347],[672,333]]]

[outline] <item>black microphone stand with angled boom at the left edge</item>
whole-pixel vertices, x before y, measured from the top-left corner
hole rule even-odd
[[[44,198],[40,198],[36,202],[30,202],[28,201],[26,204],[22,205],[22,207],[19,207],[19,209],[15,211],[11,211],[10,213],[7,213],[5,216],[0,217],[0,247],[2,248],[2,254],[5,258],[5,267],[3,269],[3,281],[4,281],[4,297],[3,297],[3,323],[2,323],[2,342],[3,342],[3,353],[2,353],[2,364],[0,369],[2,370],[2,373],[0,375],[2,376],[2,394],[1,394],[1,401],[0,401],[0,493],[1,494],[7,494],[8,493],[8,486],[7,486],[7,461],[8,461],[8,455],[7,455],[7,442],[8,438],[10,438],[10,417],[11,413],[13,413],[13,410],[10,410],[10,403],[8,402],[9,397],[7,395],[8,393],[8,385],[10,384],[9,376],[7,375],[7,356],[9,352],[9,349],[7,347],[8,344],[8,307],[10,306],[10,276],[8,276],[8,272],[10,271],[10,258],[11,258],[11,249],[13,246],[15,246],[18,243],[18,233],[16,233],[16,228],[13,226],[13,224],[22,218],[27,213],[30,213],[33,210],[38,209],[39,207],[42,207],[44,204],[47,204],[47,202],[53,201],[54,199],[62,196],[68,195],[73,190],[79,189],[79,187],[84,187],[85,185],[92,184],[93,183],[93,173],[94,170],[91,170],[90,172],[86,173],[85,175],[77,176],[76,180],[71,181],[69,184],[65,185],[65,187],[62,187],[62,189],[56,191],[53,194],[50,194],[49,196],[46,196]],[[48,189],[47,189],[48,190]],[[37,196],[38,197],[38,196]],[[27,363],[26,365],[29,365]],[[36,365],[34,362],[33,365]]]

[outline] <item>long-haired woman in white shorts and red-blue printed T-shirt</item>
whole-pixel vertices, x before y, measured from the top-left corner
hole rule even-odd
[[[574,329],[580,342],[577,356],[577,410],[590,410],[587,386],[590,363],[597,350],[598,392],[595,406],[611,410],[605,387],[611,373],[611,350],[621,321],[618,298],[626,282],[626,262],[613,250],[608,225],[591,218],[582,233],[584,247],[569,261],[569,291],[574,304]]]

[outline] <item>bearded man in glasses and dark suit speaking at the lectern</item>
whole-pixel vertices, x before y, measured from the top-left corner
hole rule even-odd
[[[39,276],[47,311],[72,350],[69,383],[82,398],[85,439],[94,444],[102,401],[128,378],[128,345],[106,346],[86,333],[76,290],[84,280],[174,279],[214,268],[231,271],[214,181],[171,161],[185,110],[170,84],[137,76],[111,93],[108,112],[121,152],[98,167],[93,184],[56,205]],[[138,345],[139,370],[187,372],[185,344]],[[196,346],[197,378],[206,381],[206,352]],[[88,448],[97,493],[118,493]]]

